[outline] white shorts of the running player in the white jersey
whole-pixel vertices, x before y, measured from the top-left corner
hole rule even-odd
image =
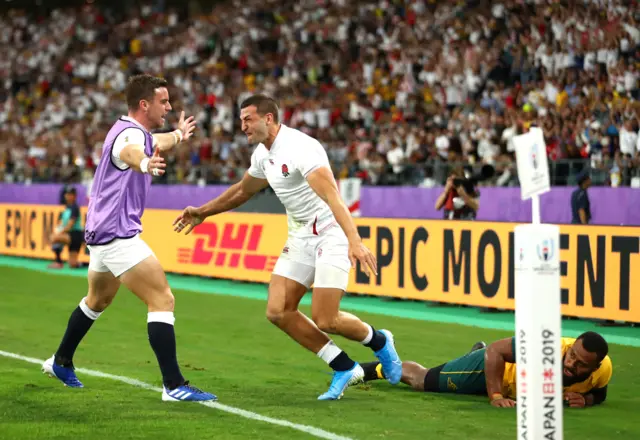
[[[289,234],[273,273],[307,289],[313,284],[346,291],[350,270],[349,241],[342,228],[333,225],[319,235]]]

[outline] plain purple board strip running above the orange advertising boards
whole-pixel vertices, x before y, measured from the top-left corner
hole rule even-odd
[[[75,185],[78,201],[87,203],[86,189]],[[147,207],[182,209],[186,205],[201,205],[222,194],[227,187],[212,185],[155,185],[151,187]],[[540,197],[540,211],[544,223],[571,222],[571,193],[573,187],[554,187]],[[18,185],[0,183],[0,203],[57,204],[61,185]],[[363,217],[439,219],[435,202],[442,188],[364,187],[361,194]],[[592,224],[640,225],[640,190],[634,188],[592,187]],[[520,200],[520,188],[481,188],[478,220],[530,222],[531,202]]]

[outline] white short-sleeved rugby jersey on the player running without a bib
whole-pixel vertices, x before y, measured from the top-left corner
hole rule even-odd
[[[336,223],[329,205],[306,180],[319,167],[331,169],[320,142],[284,124],[280,125],[270,150],[259,144],[251,155],[248,172],[258,179],[267,179],[287,210],[289,233],[318,234]]]

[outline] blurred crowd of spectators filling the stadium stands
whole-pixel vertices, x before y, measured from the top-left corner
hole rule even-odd
[[[0,18],[0,181],[91,179],[130,74],[167,78],[199,122],[161,182],[248,167],[238,104],[263,92],[337,177],[433,186],[454,165],[517,183],[513,136],[543,128],[556,184],[640,176],[640,8],[623,0],[231,0],[88,4]],[[169,119],[175,123],[179,111]],[[573,161],[568,159],[575,159]]]

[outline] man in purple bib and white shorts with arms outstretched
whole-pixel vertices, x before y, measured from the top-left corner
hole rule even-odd
[[[134,76],[126,96],[129,115],[122,116],[109,130],[91,190],[85,227],[90,252],[89,291],[71,314],[58,350],[42,369],[66,386],[83,386],[74,371],[73,355],[124,284],[149,311],[147,330],[162,372],[162,400],[217,400],[213,394],[190,385],[180,372],[173,328],[174,297],[160,262],[139,236],[151,176],[164,174],[166,165],[160,152],[189,139],[195,121],[193,117],[185,120],[182,112],[178,129],[151,134],[151,130],[164,126],[165,116],[171,111],[167,82],[162,78]]]

